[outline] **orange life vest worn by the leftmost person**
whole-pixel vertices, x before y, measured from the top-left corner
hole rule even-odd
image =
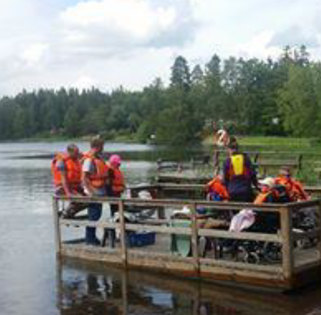
[[[63,161],[65,164],[65,172],[67,183],[70,186],[78,186],[81,184],[81,161],[79,159],[72,159],[66,153],[59,152],[56,154],[51,162],[51,174],[53,176],[54,184],[61,185],[61,172],[58,170],[57,161]]]

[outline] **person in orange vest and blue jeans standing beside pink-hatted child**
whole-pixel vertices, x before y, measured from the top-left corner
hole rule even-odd
[[[105,196],[108,169],[101,156],[104,141],[100,137],[94,137],[91,140],[90,147],[90,151],[84,154],[82,165],[82,182],[85,192],[89,196]],[[101,211],[101,203],[90,203],[88,207],[89,220],[98,221]],[[100,245],[100,241],[96,237],[95,227],[86,227],[86,243],[89,245]]]

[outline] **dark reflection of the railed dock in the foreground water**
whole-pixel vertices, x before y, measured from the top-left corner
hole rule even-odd
[[[254,292],[77,260],[57,268],[60,314],[307,315],[321,312],[321,289]]]

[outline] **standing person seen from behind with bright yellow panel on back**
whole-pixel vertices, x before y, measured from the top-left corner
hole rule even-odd
[[[252,202],[252,184],[257,187],[256,172],[247,154],[239,152],[235,137],[230,138],[228,154],[223,164],[223,183],[229,192],[230,201]]]

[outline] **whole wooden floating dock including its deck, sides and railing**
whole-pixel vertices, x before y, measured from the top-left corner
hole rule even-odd
[[[114,264],[123,268],[137,268],[151,270],[166,274],[175,274],[181,277],[200,278],[206,281],[224,281],[238,285],[259,286],[277,291],[291,290],[321,278],[321,242],[309,248],[296,246],[299,240],[311,238],[320,239],[320,222],[312,230],[298,233],[292,229],[292,217],[297,211],[314,211],[321,217],[321,201],[305,201],[289,204],[265,204],[255,206],[249,203],[213,202],[202,199],[164,199],[168,196],[163,186],[140,186],[139,189],[156,190],[158,195],[153,200],[138,198],[74,198],[78,202],[101,202],[103,204],[117,204],[119,209],[119,222],[100,220],[97,222],[86,219],[62,219],[58,212],[65,202],[62,197],[53,198],[53,215],[55,223],[56,253],[58,257],[74,257],[83,260],[100,261]],[[174,185],[175,186],[175,185]],[[180,192],[176,185],[177,192]],[[185,187],[186,189],[187,187]],[[138,188],[137,188],[138,189]],[[171,192],[175,187],[170,188]],[[135,192],[135,190],[133,190]],[[137,191],[136,191],[137,192]],[[168,192],[168,191],[167,191]],[[158,213],[157,218],[142,222],[126,223],[125,209],[129,206],[149,207]],[[189,226],[174,226],[177,218],[173,218],[173,211],[188,206],[191,214],[188,216]],[[254,232],[230,232],[226,229],[204,228],[200,222],[203,216],[197,214],[197,209],[205,208],[212,211],[213,216],[224,217],[230,211],[252,209],[256,212],[275,212],[280,216],[281,227],[275,234]],[[305,210],[304,210],[305,209]],[[320,221],[320,219],[318,219]],[[84,242],[77,242],[79,232],[74,239],[67,237],[69,230],[81,230],[84,235],[86,226],[96,226],[100,229],[117,229],[119,241],[115,247],[88,246]],[[141,233],[143,231],[156,234],[155,244],[142,247],[130,247],[128,233]],[[171,243],[173,236],[186,236],[190,240],[190,254],[185,257],[180,252],[173,251]],[[204,255],[201,253],[200,239],[210,240],[211,250]],[[244,253],[231,256],[228,253],[218,255],[217,240],[234,240],[235,242],[256,242],[260,244],[274,244],[278,247],[280,258],[273,262],[264,257],[255,263],[244,259]],[[214,244],[214,245],[213,245]],[[242,246],[240,246],[242,248]],[[260,253],[258,253],[260,256]]]

